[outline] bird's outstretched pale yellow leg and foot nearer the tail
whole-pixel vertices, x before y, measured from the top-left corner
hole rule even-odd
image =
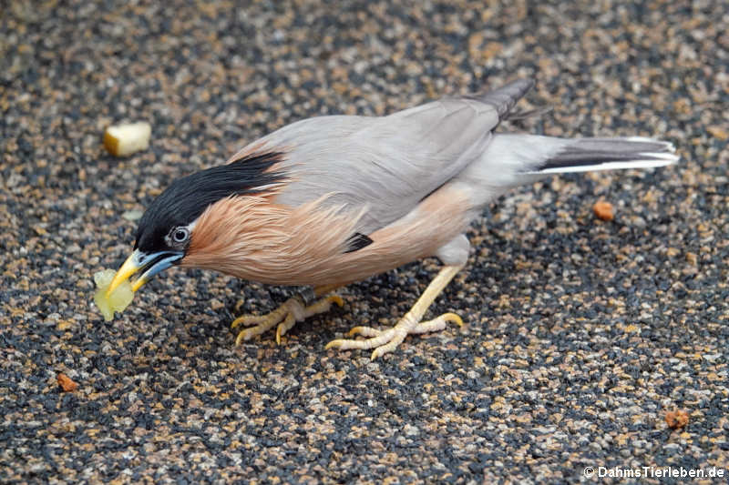
[[[463,320],[455,313],[444,313],[440,317],[433,318],[425,322],[420,320],[425,315],[427,308],[433,303],[436,297],[446,288],[447,284],[463,266],[447,266],[442,268],[440,272],[433,278],[433,281],[427,286],[426,290],[417,298],[416,304],[410,308],[405,317],[400,318],[395,327],[386,330],[378,330],[371,327],[354,327],[349,331],[349,336],[362,335],[367,337],[364,340],[353,339],[336,339],[329,342],[326,349],[373,349],[372,359],[392,352],[402,342],[408,334],[426,333],[442,330],[446,328],[447,322],[456,323],[459,327],[463,326]]]

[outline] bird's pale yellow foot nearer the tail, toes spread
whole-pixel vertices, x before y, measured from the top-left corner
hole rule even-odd
[[[349,331],[349,337],[361,335],[364,340],[354,340],[349,338],[338,338],[332,340],[326,345],[326,349],[373,349],[371,359],[392,352],[400,345],[408,334],[436,332],[446,328],[447,322],[453,322],[458,327],[463,327],[463,320],[455,313],[444,313],[440,317],[432,320],[417,321],[412,314],[408,313],[405,317],[397,322],[395,327],[386,330],[378,330],[372,327],[354,327]]]

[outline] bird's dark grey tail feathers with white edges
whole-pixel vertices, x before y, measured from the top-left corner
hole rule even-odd
[[[664,167],[679,157],[668,142],[631,136],[625,138],[578,138],[561,148],[530,173],[561,174],[619,168]]]

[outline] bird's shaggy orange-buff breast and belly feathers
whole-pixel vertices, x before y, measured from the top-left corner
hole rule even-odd
[[[435,254],[467,227],[466,198],[442,187],[406,217],[367,235],[372,244],[347,252],[366,207],[344,212],[326,207],[326,197],[299,207],[269,197],[227,197],[200,216],[180,264],[269,284],[350,283]]]

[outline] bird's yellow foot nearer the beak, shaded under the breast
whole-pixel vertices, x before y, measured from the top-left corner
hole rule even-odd
[[[281,307],[266,315],[242,315],[233,320],[231,328],[239,326],[249,328],[244,328],[238,333],[235,345],[240,345],[243,340],[250,340],[256,335],[261,335],[263,332],[275,327],[276,324],[278,324],[276,343],[281,344],[282,335],[293,328],[297,321],[329,311],[329,308],[332,308],[332,303],[344,307],[344,300],[339,295],[330,295],[313,302],[309,306],[304,306],[300,298],[293,297],[287,299]]]

